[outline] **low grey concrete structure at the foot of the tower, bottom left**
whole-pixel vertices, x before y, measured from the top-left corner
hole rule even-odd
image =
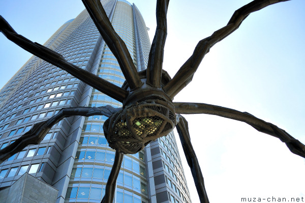
[[[24,173],[13,185],[0,191],[0,202],[54,203],[58,190]]]

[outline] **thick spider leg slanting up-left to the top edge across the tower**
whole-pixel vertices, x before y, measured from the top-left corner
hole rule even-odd
[[[114,31],[109,18],[99,0],[82,0],[88,13],[96,24],[103,40],[110,48],[128,82],[130,89],[142,86],[137,69],[133,63],[125,42]]]

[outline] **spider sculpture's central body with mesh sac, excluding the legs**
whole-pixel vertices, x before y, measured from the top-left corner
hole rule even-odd
[[[169,80],[166,76],[163,84]],[[123,89],[129,95],[123,109],[112,114],[104,123],[103,129],[109,146],[124,154],[135,154],[144,149],[150,141],[166,136],[176,125],[175,107],[162,88],[146,84],[146,70],[139,73],[143,85],[130,90],[125,82]]]

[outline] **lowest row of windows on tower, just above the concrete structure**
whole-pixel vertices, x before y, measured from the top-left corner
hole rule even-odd
[[[13,176],[20,176],[20,175],[23,175],[25,172],[28,172],[28,173],[40,172],[43,167],[43,163],[41,164],[40,169],[38,170],[39,165],[40,165],[39,163],[36,163],[36,164],[23,165],[20,167],[17,166],[17,167],[13,167],[10,169],[1,170],[0,179],[9,178],[9,177],[13,177]]]

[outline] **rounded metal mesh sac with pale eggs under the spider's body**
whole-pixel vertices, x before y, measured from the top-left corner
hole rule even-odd
[[[136,154],[150,141],[167,135],[175,127],[175,112],[156,103],[135,103],[113,114],[104,123],[105,137],[112,149]]]

